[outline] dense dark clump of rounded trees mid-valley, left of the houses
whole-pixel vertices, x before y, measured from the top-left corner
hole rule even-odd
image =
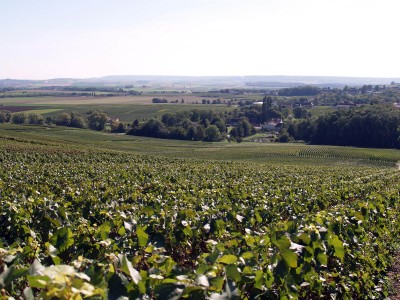
[[[218,113],[212,110],[179,111],[166,113],[161,120],[151,119],[142,124],[136,120],[127,133],[165,139],[216,142],[227,137],[226,124],[234,117],[227,112]],[[241,138],[254,132],[254,127],[242,117],[233,127],[231,135]]]

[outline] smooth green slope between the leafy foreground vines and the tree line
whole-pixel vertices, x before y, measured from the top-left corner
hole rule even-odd
[[[393,167],[400,152],[393,149],[367,149],[305,144],[243,142],[192,142],[109,134],[68,127],[1,124],[0,138],[22,139],[44,144],[151,154],[195,160],[249,161],[286,165],[369,165]]]

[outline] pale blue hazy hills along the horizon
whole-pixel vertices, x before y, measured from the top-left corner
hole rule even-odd
[[[386,84],[400,82],[400,78],[334,77],[334,76],[152,76],[114,75],[98,78],[54,78],[48,80],[0,80],[1,87],[41,86],[154,86],[175,89],[216,88],[282,88],[301,85],[323,87],[360,86],[364,84]]]

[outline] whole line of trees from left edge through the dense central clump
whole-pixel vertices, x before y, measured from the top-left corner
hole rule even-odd
[[[39,114],[26,114],[23,112],[11,113],[0,111],[0,122],[14,124],[55,124],[75,128],[89,128],[92,130],[107,130],[115,133],[147,136],[155,138],[168,138],[193,141],[221,141],[229,137],[238,142],[243,137],[255,133],[254,127],[248,118],[239,110],[233,112],[215,112],[212,110],[179,111],[166,113],[161,120],[151,119],[143,123],[135,120],[130,126],[119,121],[113,121],[102,111],[88,111],[84,114],[63,112],[56,116],[44,118]],[[232,129],[228,134],[227,124]]]

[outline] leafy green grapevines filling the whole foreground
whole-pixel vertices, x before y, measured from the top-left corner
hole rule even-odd
[[[352,159],[304,149],[298,156]],[[189,160],[18,139],[0,139],[0,161],[2,299],[391,291],[394,167]]]

